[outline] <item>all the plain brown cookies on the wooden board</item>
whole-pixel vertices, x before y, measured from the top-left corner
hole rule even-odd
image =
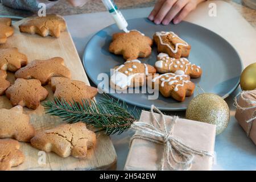
[[[61,16],[52,14],[32,18],[20,24],[19,29],[28,34],[58,38],[66,30],[66,24]],[[0,44],[6,43],[13,34],[11,19],[0,19]],[[15,75],[13,84],[8,72]],[[0,96],[6,94],[14,106],[0,109],[0,170],[9,170],[23,163],[25,156],[19,150],[19,142],[31,142],[32,147],[55,152],[63,158],[70,155],[85,158],[87,150],[95,145],[96,134],[82,122],[35,132],[30,116],[23,113],[23,107],[37,109],[40,101],[48,97],[45,88],[48,84],[55,97],[71,104],[82,104],[82,100],[91,100],[98,92],[85,82],[71,80],[71,71],[61,57],[28,61],[18,48],[0,48]]]

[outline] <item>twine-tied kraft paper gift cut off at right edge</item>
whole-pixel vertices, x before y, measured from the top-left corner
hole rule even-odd
[[[236,119],[256,144],[256,90],[242,92],[237,98]],[[249,122],[250,121],[250,122]]]

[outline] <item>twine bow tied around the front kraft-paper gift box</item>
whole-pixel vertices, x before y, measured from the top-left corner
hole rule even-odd
[[[161,115],[163,129],[160,126],[160,122],[156,119],[154,115],[154,110]],[[174,132],[175,123],[177,122],[177,119],[179,119],[179,117],[175,116],[172,118],[171,128],[170,131],[168,131],[164,114],[154,105],[151,106],[151,115],[151,124],[144,122],[134,122],[133,125],[131,125],[132,129],[139,131],[139,134],[137,133],[131,138],[131,142],[134,139],[144,139],[150,142],[163,145],[163,158],[161,160],[159,168],[161,171],[163,171],[164,169],[164,164],[166,160],[168,168],[172,170],[189,170],[192,167],[194,154],[200,156],[207,155],[213,157],[212,152],[197,150],[195,148],[189,147],[172,136]],[[154,124],[154,122],[156,123],[156,125]]]

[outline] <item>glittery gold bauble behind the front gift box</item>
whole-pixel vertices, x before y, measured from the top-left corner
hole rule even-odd
[[[228,126],[229,117],[228,104],[213,93],[199,94],[189,102],[186,110],[186,119],[216,125],[216,135]]]

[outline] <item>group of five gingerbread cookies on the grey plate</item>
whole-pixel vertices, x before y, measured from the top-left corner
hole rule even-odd
[[[154,67],[138,60],[151,55],[153,40],[159,52]],[[202,69],[186,58],[191,46],[174,32],[156,32],[153,40],[137,30],[113,35],[109,51],[123,55],[126,62],[114,68],[110,85],[115,90],[126,90],[143,86],[148,80],[149,86],[164,97],[182,102],[195,90],[190,78],[201,77]]]

